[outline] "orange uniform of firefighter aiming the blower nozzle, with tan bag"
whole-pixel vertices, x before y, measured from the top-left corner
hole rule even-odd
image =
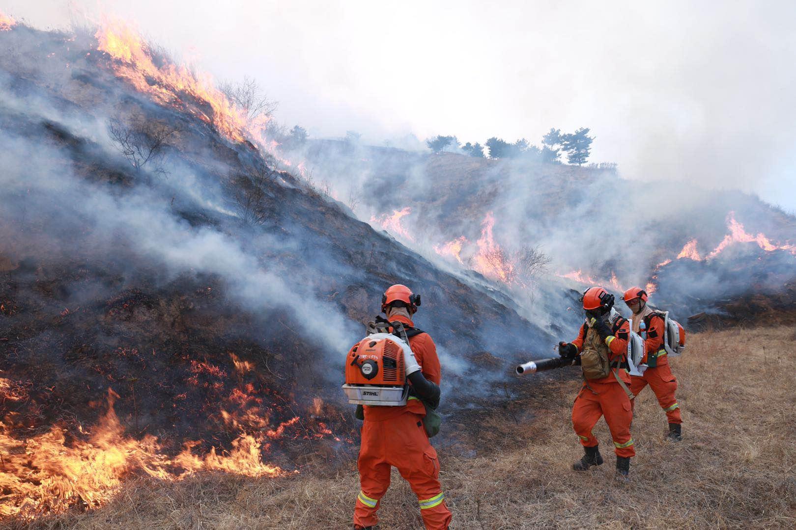
[[[588,326],[581,326],[578,338],[572,344],[578,349],[578,354],[587,348],[606,349],[607,358],[611,363],[623,361],[627,354],[627,339],[630,336],[630,323],[622,319],[622,324],[615,329],[615,335],[610,335],[603,342],[597,331]],[[584,332],[585,331],[585,332]],[[612,369],[611,371],[614,371]],[[618,377],[628,385],[630,376],[625,369],[618,369]],[[633,438],[630,436],[630,422],[633,420],[633,409],[630,398],[619,385],[613,373],[602,379],[583,381],[583,388],[572,407],[572,427],[580,439],[583,447],[595,447],[597,438],[591,429],[597,424],[600,416],[605,416],[605,422],[614,439],[617,456],[632,457],[636,454],[633,447]]]

